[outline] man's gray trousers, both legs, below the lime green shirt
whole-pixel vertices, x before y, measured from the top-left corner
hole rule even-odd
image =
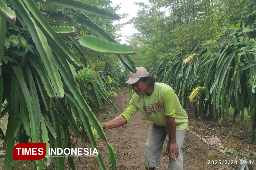
[[[163,142],[168,133],[168,128],[165,126],[157,126],[152,123],[150,132],[148,133],[146,150],[144,153],[145,167],[159,167]],[[176,142],[179,146],[179,156],[176,160],[172,159],[169,151],[169,166],[168,170],[183,170],[183,155],[181,147],[187,130],[176,130]]]

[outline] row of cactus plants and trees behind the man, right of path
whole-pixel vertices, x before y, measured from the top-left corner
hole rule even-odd
[[[132,58],[174,89],[195,117],[250,115],[256,143],[256,4],[251,0],[152,0],[133,23]],[[169,16],[160,8],[169,10]],[[184,19],[183,19],[184,18]],[[149,60],[147,60],[149,59]],[[148,62],[145,62],[148,61]],[[190,100],[190,101],[188,101]],[[197,105],[199,104],[199,113]]]

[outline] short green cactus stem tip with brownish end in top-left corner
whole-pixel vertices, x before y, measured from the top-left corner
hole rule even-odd
[[[9,8],[4,1],[0,1],[0,15],[4,17],[8,22],[15,25],[16,15],[15,12]]]

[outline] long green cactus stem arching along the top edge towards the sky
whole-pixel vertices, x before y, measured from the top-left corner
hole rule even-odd
[[[42,2],[42,0],[38,0]],[[96,15],[99,17],[109,18],[109,19],[121,19],[118,15],[111,13],[110,11],[106,11],[103,8],[98,8],[96,6],[90,5],[88,3],[84,3],[82,1],[74,1],[74,0],[46,0],[46,3],[63,6],[65,8],[71,8],[73,10],[82,11],[88,14]]]

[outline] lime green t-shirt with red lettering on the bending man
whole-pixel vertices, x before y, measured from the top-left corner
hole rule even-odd
[[[128,122],[132,115],[140,110],[143,116],[158,126],[166,126],[166,116],[175,117],[176,130],[187,129],[188,117],[182,108],[179,98],[173,89],[164,83],[155,83],[154,91],[150,96],[143,93],[132,96],[129,106],[121,115]]]

